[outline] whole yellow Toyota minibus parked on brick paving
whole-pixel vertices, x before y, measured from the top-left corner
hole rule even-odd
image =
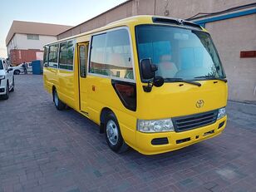
[[[219,135],[227,80],[203,27],[128,17],[45,46],[43,79],[57,110],[99,125],[111,150],[154,155]]]

